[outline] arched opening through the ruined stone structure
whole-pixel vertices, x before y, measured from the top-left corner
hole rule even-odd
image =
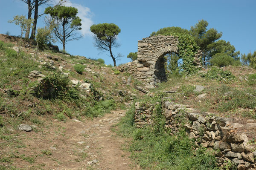
[[[154,67],[156,82],[162,83],[168,80],[168,75],[177,75],[182,71],[182,58],[176,52],[166,52],[161,55]]]

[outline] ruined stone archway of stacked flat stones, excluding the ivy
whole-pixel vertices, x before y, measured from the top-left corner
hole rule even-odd
[[[178,37],[157,35],[138,41],[137,80],[143,81],[145,88],[152,89],[157,83],[166,80],[163,56],[179,53]],[[201,67],[201,53],[195,55],[194,63]]]

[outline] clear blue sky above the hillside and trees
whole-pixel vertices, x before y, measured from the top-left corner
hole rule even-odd
[[[55,0],[56,1],[56,0]],[[103,58],[105,63],[113,64],[108,53],[100,53],[93,46],[90,25],[115,23],[121,29],[115,54],[124,57],[117,64],[127,63],[129,52],[137,51],[137,41],[148,37],[151,32],[168,26],[190,29],[204,19],[209,28],[223,32],[221,39],[230,41],[241,53],[256,50],[256,0],[67,0],[67,6],[79,9],[84,37],[70,41],[66,50],[73,55],[87,58]],[[44,11],[41,7],[41,12]],[[9,31],[20,35],[18,26],[7,23],[14,15],[27,14],[26,4],[20,0],[0,0],[0,33]],[[44,26],[44,17],[38,21]],[[60,49],[61,44],[57,44]]]

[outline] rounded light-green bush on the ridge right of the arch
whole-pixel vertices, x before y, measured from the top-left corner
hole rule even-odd
[[[217,53],[210,59],[210,64],[212,66],[238,66],[241,65],[240,61],[236,61],[234,58],[232,58],[230,55],[227,55],[226,53]]]

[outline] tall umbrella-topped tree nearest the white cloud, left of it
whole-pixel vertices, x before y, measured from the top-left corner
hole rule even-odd
[[[55,22],[53,32],[58,42],[62,44],[65,51],[65,44],[71,40],[78,40],[81,35],[78,35],[77,30],[81,30],[81,19],[76,16],[78,10],[71,6],[47,7],[46,14],[50,14],[51,18],[46,21],[47,25],[52,21]]]

